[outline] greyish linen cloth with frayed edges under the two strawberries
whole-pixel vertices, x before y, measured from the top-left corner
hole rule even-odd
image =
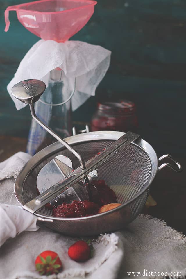
[[[1,182],[0,203],[18,205],[13,185],[13,177]],[[2,226],[4,217],[0,220]],[[84,263],[74,262],[67,255],[68,247],[76,240],[46,228],[22,232],[0,248],[0,278],[149,279],[163,278],[161,273],[170,278],[178,278],[177,272],[186,275],[186,237],[151,216],[139,215],[125,229],[97,238],[93,257]],[[58,275],[40,276],[35,271],[35,258],[45,250],[56,251],[62,260],[63,270]]]

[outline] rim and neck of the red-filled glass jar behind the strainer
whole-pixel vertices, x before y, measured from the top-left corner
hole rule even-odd
[[[128,100],[118,100],[98,103],[98,109],[117,114],[130,114],[136,111],[135,103]]]

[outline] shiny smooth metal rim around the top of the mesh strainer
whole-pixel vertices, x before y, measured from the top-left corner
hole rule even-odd
[[[96,131],[96,132],[89,132],[89,133],[84,133],[84,134],[78,134],[74,135],[71,137],[68,137],[65,139],[65,141],[70,144],[80,144],[82,142],[91,142],[94,140],[117,140],[119,137],[124,135],[125,133],[123,132],[116,132],[116,131]],[[146,142],[143,139],[138,139],[135,142],[132,142],[131,144],[136,145],[140,149],[142,149],[143,152],[146,153],[148,156],[150,162],[151,162],[151,174],[149,176],[148,181],[144,185],[144,187],[130,200],[126,201],[125,203],[119,205],[118,207],[103,212],[99,214],[95,214],[92,216],[87,216],[87,217],[77,217],[77,218],[62,218],[62,217],[54,217],[54,216],[48,216],[44,214],[38,214],[34,212],[33,214],[37,217],[45,218],[45,219],[51,219],[51,220],[58,220],[58,221],[80,221],[80,220],[85,220],[85,219],[92,219],[94,217],[101,217],[105,216],[107,214],[110,214],[112,212],[118,211],[121,208],[124,208],[126,205],[134,201],[136,198],[138,198],[145,190],[150,186],[151,182],[153,181],[157,171],[158,171],[158,157],[155,153],[155,150],[153,147]],[[22,195],[22,187],[24,186],[25,180],[30,174],[30,172],[38,165],[40,164],[43,160],[48,158],[49,156],[53,155],[54,153],[57,153],[61,150],[65,149],[65,146],[63,146],[60,142],[55,142],[41,151],[39,151],[37,154],[35,154],[27,163],[26,165],[21,169],[19,172],[17,178],[15,179],[14,183],[14,193],[17,198],[17,201],[19,204],[23,207],[26,202],[24,201],[23,195]]]

